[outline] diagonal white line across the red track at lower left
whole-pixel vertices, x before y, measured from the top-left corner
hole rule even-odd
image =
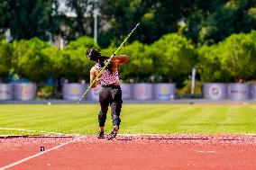
[[[34,157],[39,157],[39,156],[41,156],[41,155],[43,155],[43,154],[46,154],[47,152],[50,152],[50,151],[52,151],[52,150],[54,150],[54,149],[63,147],[63,146],[65,146],[65,145],[68,145],[69,143],[72,143],[72,142],[77,141],[78,139],[82,139],[82,138],[84,138],[84,137],[85,137],[85,136],[78,137],[77,139],[72,139],[72,140],[70,140],[69,142],[62,143],[62,144],[60,144],[60,145],[58,145],[58,146],[56,146],[56,147],[54,147],[54,148],[47,149],[47,150],[45,150],[45,151],[39,152],[39,153],[37,153],[37,154],[35,154],[35,155],[32,155],[32,156],[30,156],[30,157],[23,158],[23,159],[21,159],[21,160],[19,160],[19,161],[16,161],[16,162],[12,163],[12,164],[9,164],[9,165],[7,165],[7,166],[0,167],[0,170],[5,170],[5,169],[7,169],[7,168],[10,168],[10,167],[13,167],[13,166],[17,166],[17,165],[22,164],[23,162],[28,161],[28,160],[30,160],[30,159],[32,159],[32,158],[34,158]]]

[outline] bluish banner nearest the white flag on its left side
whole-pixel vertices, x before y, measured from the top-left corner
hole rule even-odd
[[[154,98],[159,100],[174,99],[175,84],[154,84]]]

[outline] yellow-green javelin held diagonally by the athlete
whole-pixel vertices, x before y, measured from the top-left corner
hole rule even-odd
[[[137,23],[137,25],[133,28],[133,30],[128,34],[128,36],[123,40],[122,44],[114,51],[114,55],[117,54],[117,52],[123,47],[123,44],[131,37],[131,35],[133,34],[133,31],[136,30],[136,28],[139,26],[140,22]],[[81,102],[81,100],[85,97],[85,95],[87,94],[87,92],[89,91],[89,89],[92,87],[92,85],[94,85],[96,83],[96,79],[101,76],[102,72],[105,70],[105,68],[107,67],[107,65],[110,63],[111,59],[114,57],[114,55],[108,59],[107,63],[105,64],[105,67],[103,67],[100,72],[97,74],[96,78],[94,79],[94,81],[91,83],[91,85],[89,85],[87,87],[86,92],[82,95],[82,97],[78,100],[78,103]]]

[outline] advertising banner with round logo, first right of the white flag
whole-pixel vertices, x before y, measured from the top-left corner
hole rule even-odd
[[[203,85],[205,99],[223,100],[227,97],[227,85],[221,83],[206,83]]]

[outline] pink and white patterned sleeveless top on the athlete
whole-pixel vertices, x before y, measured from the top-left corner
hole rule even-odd
[[[95,65],[96,68],[101,71],[103,67],[101,67],[98,63]],[[118,71],[113,72],[113,74],[110,74],[107,70],[104,70],[101,74],[101,85],[113,85],[113,84],[119,84],[119,76]]]

